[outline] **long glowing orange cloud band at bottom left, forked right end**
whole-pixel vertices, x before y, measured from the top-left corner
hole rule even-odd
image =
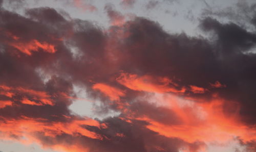
[[[79,118],[74,119],[68,122],[49,122],[46,119],[41,118],[30,118],[22,116],[21,119],[6,119],[1,117],[0,119],[0,130],[1,130],[1,139],[13,140],[15,137],[22,137],[19,141],[24,142],[23,140],[31,140],[34,142],[36,137],[33,135],[35,133],[42,133],[46,137],[55,138],[58,135],[68,134],[74,137],[76,136],[85,136],[92,139],[102,140],[102,137],[94,132],[91,132],[83,127],[83,125],[96,126],[101,128],[101,124],[90,118]],[[38,143],[40,141],[38,140]],[[65,144],[61,143],[56,144],[58,148],[66,147]],[[55,146],[53,146],[55,148]],[[72,151],[71,149],[64,148],[67,151]],[[62,150],[64,150],[62,149]]]

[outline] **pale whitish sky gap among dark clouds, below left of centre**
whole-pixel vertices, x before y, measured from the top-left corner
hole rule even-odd
[[[98,118],[100,120],[107,117],[118,116],[120,112],[109,110],[107,113],[99,114],[97,109],[101,107],[101,102],[99,100],[91,100],[88,95],[86,88],[75,85],[74,92],[77,95],[76,99],[73,99],[73,103],[70,105],[69,109],[78,115],[87,116],[91,118]]]

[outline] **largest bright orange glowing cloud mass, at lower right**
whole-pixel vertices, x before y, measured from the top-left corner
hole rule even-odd
[[[236,103],[219,98],[210,102],[190,104],[182,104],[182,101],[173,100],[168,96],[163,99],[165,102],[171,102],[169,108],[180,117],[181,124],[165,124],[147,116],[136,118],[149,122],[147,128],[160,135],[177,137],[189,143],[196,141],[224,143],[234,137],[239,137],[243,141],[256,140],[256,130],[240,121],[238,113],[240,107]],[[236,110],[226,114],[224,103],[230,103],[230,108]]]

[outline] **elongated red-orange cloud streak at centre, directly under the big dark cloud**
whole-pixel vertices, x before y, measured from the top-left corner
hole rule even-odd
[[[176,89],[178,87],[172,80],[166,77],[153,78],[150,75],[143,75],[139,77],[136,74],[121,73],[120,77],[116,79],[121,85],[136,91],[146,92],[175,92],[184,93],[185,88]]]

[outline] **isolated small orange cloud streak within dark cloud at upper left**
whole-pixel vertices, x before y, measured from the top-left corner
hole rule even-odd
[[[38,40],[31,40],[30,42],[13,42],[10,43],[13,47],[17,48],[20,52],[25,53],[29,56],[32,55],[32,52],[37,52],[38,49],[42,49],[47,53],[55,53],[57,50],[55,46],[47,42],[39,42]]]

